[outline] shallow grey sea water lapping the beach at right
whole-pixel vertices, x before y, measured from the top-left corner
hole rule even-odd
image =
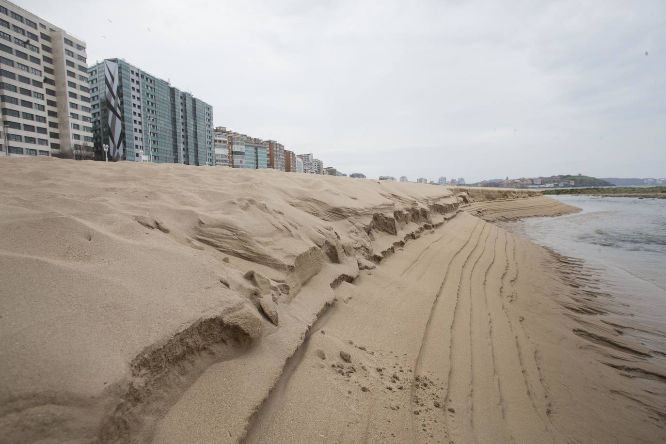
[[[582,211],[527,218],[507,228],[585,260],[601,278],[603,290],[629,307],[634,322],[666,333],[666,199],[551,197]],[[663,336],[644,338],[655,339],[661,342],[659,349],[666,348]]]

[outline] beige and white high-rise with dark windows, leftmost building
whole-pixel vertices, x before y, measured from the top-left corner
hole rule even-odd
[[[0,37],[2,154],[92,158],[85,42],[5,0]]]

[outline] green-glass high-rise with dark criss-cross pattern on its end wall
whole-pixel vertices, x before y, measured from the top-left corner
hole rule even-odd
[[[123,59],[88,69],[97,158],[214,165],[212,106]]]

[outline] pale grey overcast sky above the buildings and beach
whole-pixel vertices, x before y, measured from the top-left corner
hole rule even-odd
[[[663,0],[17,3],[342,172],[666,176]]]

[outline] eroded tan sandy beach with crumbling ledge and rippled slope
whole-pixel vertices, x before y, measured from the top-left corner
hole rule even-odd
[[[42,156],[0,183],[2,443],[666,440],[649,327],[494,224],[578,210],[537,192]]]

